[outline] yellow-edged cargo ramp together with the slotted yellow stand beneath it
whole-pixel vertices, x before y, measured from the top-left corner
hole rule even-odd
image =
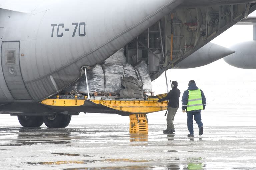
[[[41,104],[56,110],[118,114],[130,117],[130,133],[148,133],[148,113],[167,109],[167,101],[158,102],[166,94],[146,99],[121,99],[113,96],[55,96]]]

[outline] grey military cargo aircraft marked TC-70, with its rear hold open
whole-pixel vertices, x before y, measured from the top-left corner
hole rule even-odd
[[[42,101],[122,47],[128,63],[147,61],[152,81],[168,69],[199,67],[234,53],[209,42],[247,18],[255,2],[0,0],[0,113],[18,116],[24,127],[44,122],[55,128],[79,112],[121,114],[90,101],[79,107]]]

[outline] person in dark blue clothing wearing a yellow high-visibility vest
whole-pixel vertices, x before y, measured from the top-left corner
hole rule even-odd
[[[201,119],[201,110],[205,109],[206,99],[204,92],[196,86],[194,80],[190,80],[188,90],[182,96],[182,110],[187,112],[188,137],[194,136],[193,116],[199,128],[199,135],[203,134],[203,123]]]

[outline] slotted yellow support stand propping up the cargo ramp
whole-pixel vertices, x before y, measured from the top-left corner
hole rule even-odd
[[[130,133],[148,133],[148,118],[146,114],[130,115]]]

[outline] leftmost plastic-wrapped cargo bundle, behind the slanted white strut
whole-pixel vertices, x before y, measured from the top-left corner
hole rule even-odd
[[[92,92],[104,92],[104,74],[101,65],[95,65],[91,69],[87,70],[89,91]],[[87,94],[86,78],[85,74],[77,80],[78,93]]]

